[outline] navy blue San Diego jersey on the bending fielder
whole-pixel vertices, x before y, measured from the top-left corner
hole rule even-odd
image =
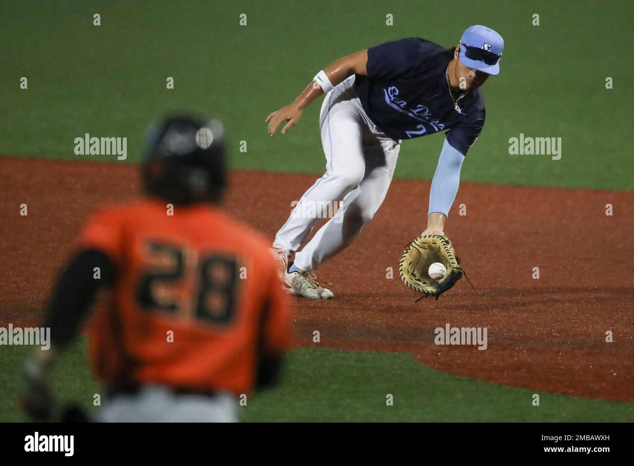
[[[420,37],[368,49],[368,75],[354,78],[368,117],[394,139],[449,130],[447,141],[466,154],[484,126],[484,98],[481,89],[469,92],[456,112],[445,77],[452,58],[449,49]]]

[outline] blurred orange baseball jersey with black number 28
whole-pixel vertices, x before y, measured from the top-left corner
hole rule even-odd
[[[249,392],[261,356],[290,344],[268,243],[211,205],[146,199],[94,214],[79,238],[115,265],[91,352],[110,386]]]

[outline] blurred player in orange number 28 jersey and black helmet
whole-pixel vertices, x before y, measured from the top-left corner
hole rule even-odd
[[[148,197],[98,210],[53,292],[44,322],[53,344],[27,362],[22,399],[39,420],[51,411],[51,360],[104,287],[110,300],[91,339],[107,388],[100,420],[234,421],[238,397],[278,377],[288,297],[269,245],[217,207],[226,178],[220,122],[167,119],[148,139]]]

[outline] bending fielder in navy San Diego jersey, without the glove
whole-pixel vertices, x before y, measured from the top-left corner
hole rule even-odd
[[[326,172],[304,193],[271,249],[290,292],[313,299],[333,297],[313,272],[350,245],[372,220],[392,181],[403,139],[446,134],[424,231],[444,235],[462,162],[484,125],[479,88],[489,75],[498,74],[503,48],[500,34],[484,26],[469,27],[451,49],[418,37],[387,42],[335,61],[293,103],[268,116],[271,136],[283,121],[288,122],[281,131],[286,133],[309,103],[327,93],[320,113]],[[322,206],[340,199],[339,218],[331,218],[290,262],[327,216]]]

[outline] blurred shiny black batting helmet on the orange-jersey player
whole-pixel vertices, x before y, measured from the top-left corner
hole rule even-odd
[[[146,132],[141,162],[145,190],[174,204],[216,202],[226,184],[219,120],[170,117]]]

